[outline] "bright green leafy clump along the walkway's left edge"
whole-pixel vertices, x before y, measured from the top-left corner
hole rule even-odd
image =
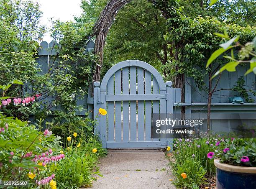
[[[72,135],[71,135],[72,136]],[[69,147],[65,149],[65,159],[52,164],[50,169],[56,173],[56,182],[59,188],[80,188],[92,186],[95,177],[99,173],[98,158],[106,155],[106,150],[95,137],[84,139],[83,136],[72,136],[67,142]],[[66,140],[67,141],[67,140]],[[81,146],[77,146],[80,143]],[[92,149],[97,148],[93,153]]]

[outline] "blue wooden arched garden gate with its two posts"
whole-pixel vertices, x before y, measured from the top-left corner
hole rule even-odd
[[[95,134],[104,148],[163,148],[172,141],[151,138],[151,113],[173,112],[172,82],[150,64],[122,61],[94,82]],[[98,116],[99,108],[108,111]]]

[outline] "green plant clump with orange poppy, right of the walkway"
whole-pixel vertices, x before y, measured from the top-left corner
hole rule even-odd
[[[172,162],[172,168],[176,180],[175,186],[182,188],[198,188],[205,183],[206,170],[202,167],[200,161],[194,159],[185,160],[182,164]]]

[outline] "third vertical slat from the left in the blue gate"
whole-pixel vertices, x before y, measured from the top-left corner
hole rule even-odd
[[[123,68],[123,95],[129,95],[129,70]],[[123,101],[123,141],[129,141],[129,102]]]

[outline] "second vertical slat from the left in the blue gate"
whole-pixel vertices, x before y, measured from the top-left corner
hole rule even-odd
[[[115,95],[121,95],[121,70],[115,72]],[[121,101],[115,102],[115,141],[121,141],[122,120]]]

